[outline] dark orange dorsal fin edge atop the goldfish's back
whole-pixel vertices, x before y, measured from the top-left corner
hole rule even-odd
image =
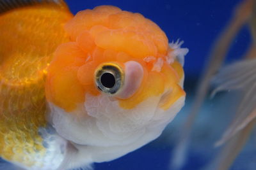
[[[13,10],[22,6],[42,3],[56,4],[59,6],[67,7],[63,0],[0,0],[0,13]]]

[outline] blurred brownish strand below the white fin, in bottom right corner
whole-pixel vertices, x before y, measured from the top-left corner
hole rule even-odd
[[[254,119],[249,124],[246,124],[246,127],[228,141],[221,152],[217,155],[213,164],[209,167],[206,167],[207,170],[226,170],[230,167],[232,162],[236,159],[239,152],[243,149],[244,144],[248,140],[250,133],[252,132],[253,127],[255,127],[256,120]]]

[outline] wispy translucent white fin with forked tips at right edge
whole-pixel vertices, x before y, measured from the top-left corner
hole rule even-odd
[[[256,117],[256,59],[244,60],[224,67],[214,77],[213,82],[218,84],[214,94],[220,90],[233,89],[241,89],[244,92],[234,120],[221,140],[216,143],[221,145]]]

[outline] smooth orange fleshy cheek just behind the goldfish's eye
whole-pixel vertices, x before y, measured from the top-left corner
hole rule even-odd
[[[84,89],[77,80],[77,70],[85,59],[86,55],[76,43],[64,43],[57,48],[47,69],[47,101],[66,111],[75,110],[78,103],[84,102]]]

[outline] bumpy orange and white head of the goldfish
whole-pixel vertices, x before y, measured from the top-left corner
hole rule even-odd
[[[184,105],[176,57],[188,50],[168,45],[139,13],[114,6],[80,11],[65,30],[70,42],[57,48],[46,81],[56,131],[77,145],[115,148],[95,162],[157,138]]]

